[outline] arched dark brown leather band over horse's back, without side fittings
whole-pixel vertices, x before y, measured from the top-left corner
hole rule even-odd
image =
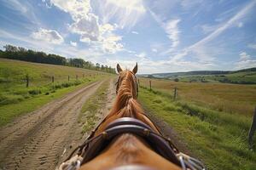
[[[122,133],[133,133],[142,137],[160,156],[180,166],[180,161],[178,161],[177,156],[166,139],[160,136],[160,134],[154,133],[145,123],[131,117],[115,120],[108,125],[107,129],[98,138],[92,140],[88,144],[87,149],[84,150],[82,164],[99,155],[114,137]]]

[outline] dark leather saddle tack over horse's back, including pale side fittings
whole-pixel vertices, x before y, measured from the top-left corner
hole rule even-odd
[[[90,133],[90,136],[84,141],[84,144],[79,145],[78,148],[73,150],[73,153],[76,150],[79,150],[79,152],[77,155],[78,159],[76,159],[77,161],[72,162],[70,164],[71,166],[78,167],[78,165],[83,165],[98,156],[114,137],[122,133],[132,133],[145,139],[155,152],[165,157],[168,161],[172,161],[178,167],[182,167],[183,169],[205,169],[201,161],[179,152],[170,139],[166,139],[159,133],[155,133],[147,124],[135,118],[119,118],[109,123],[104,132],[92,137],[94,132],[95,131]],[[71,159],[73,153],[65,162]]]

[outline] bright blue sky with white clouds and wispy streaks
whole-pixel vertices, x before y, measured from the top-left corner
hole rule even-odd
[[[138,73],[256,66],[256,0],[0,0],[12,44]]]

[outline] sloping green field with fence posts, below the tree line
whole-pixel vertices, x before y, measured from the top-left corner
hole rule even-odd
[[[29,77],[28,88],[26,75]],[[53,76],[55,81],[51,82]],[[111,75],[61,65],[0,59],[0,126],[16,116],[34,111],[53,99],[105,77]]]

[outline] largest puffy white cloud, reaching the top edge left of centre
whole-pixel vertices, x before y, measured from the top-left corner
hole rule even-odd
[[[90,44],[91,48],[111,54],[124,48],[123,44],[120,43],[122,37],[113,33],[118,26],[109,23],[101,24],[99,17],[92,13],[90,0],[71,0],[68,2],[66,0],[51,0],[50,2],[72,16],[73,23],[69,29],[80,35],[81,42],[86,42]],[[121,4],[118,3],[118,5]]]

